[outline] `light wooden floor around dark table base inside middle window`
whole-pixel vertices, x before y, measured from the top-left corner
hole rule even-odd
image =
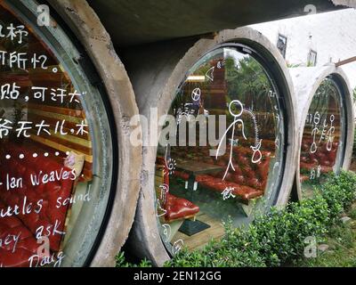
[[[215,220],[214,218],[207,216],[204,213],[199,213],[197,216],[197,220],[204,222],[210,225],[210,228],[206,229],[203,232],[199,232],[192,236],[188,236],[182,232],[177,232],[174,235],[174,240],[183,240],[184,246],[188,249],[198,249],[202,248],[208,243],[210,240],[221,239],[224,234],[224,228],[222,221]]]

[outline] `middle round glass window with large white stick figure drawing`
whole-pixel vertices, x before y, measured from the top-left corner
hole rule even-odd
[[[251,221],[279,194],[285,108],[273,73],[245,45],[222,45],[187,73],[156,161],[157,216],[175,254]]]

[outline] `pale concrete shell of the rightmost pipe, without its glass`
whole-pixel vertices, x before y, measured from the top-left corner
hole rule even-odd
[[[353,98],[352,98],[352,88],[349,84],[349,80],[345,75],[344,71],[341,68],[336,68],[335,64],[329,64],[321,67],[303,67],[303,68],[293,68],[289,69],[290,75],[293,78],[295,85],[295,96],[297,99],[298,109],[295,111],[297,113],[297,128],[299,130],[298,134],[298,151],[297,157],[295,160],[296,172],[295,172],[295,185],[296,185],[296,194],[298,199],[303,199],[302,197],[302,187],[300,183],[300,155],[301,155],[301,146],[303,140],[303,129],[305,126],[305,120],[308,115],[310,105],[312,103],[313,95],[317,92],[321,82],[330,75],[336,75],[341,79],[341,83],[346,94],[345,107],[346,107],[346,116],[347,121],[352,122],[352,127],[347,128],[346,134],[346,146],[344,154],[344,164],[343,169],[347,170],[350,167],[352,160],[352,146],[353,146],[353,135],[354,135],[354,110]]]

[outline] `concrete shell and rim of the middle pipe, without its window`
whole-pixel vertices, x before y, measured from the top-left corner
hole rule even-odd
[[[295,96],[287,65],[279,51],[261,33],[251,28],[224,30],[214,38],[182,39],[155,45],[130,48],[120,54],[134,85],[140,113],[150,118],[151,108],[158,109],[158,118],[166,115],[176,91],[187,76],[188,70],[206,53],[225,43],[239,43],[255,49],[273,70],[283,98],[286,122],[284,171],[273,205],[286,205],[295,179],[295,159],[298,133],[295,128]],[[160,133],[158,128],[158,137]],[[142,127],[144,140],[155,130]],[[153,134],[155,135],[155,134]],[[141,195],[133,230],[128,240],[132,251],[146,256],[155,265],[163,265],[170,258],[161,240],[156,212],[155,161],[158,148],[144,146]]]

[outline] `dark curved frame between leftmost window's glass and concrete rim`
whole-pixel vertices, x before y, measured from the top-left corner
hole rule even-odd
[[[111,153],[108,153],[111,159],[111,167],[109,171],[111,172],[111,180],[108,183],[108,200],[106,202],[105,210],[103,211],[102,219],[96,237],[93,239],[92,245],[89,251],[83,258],[81,267],[88,267],[91,265],[93,258],[98,251],[101,240],[105,233],[106,227],[109,224],[109,217],[111,215],[111,210],[113,208],[114,200],[116,197],[117,189],[117,179],[118,179],[118,148],[117,148],[117,128],[115,125],[115,119],[113,110],[111,109],[109,98],[106,94],[105,86],[101,81],[101,77],[97,73],[93,62],[85,51],[85,48],[80,45],[76,40],[77,37],[71,31],[67,23],[61,19],[61,16],[55,12],[55,10],[47,4],[51,11],[51,20],[55,20],[56,26],[43,26],[39,27],[36,25],[37,20],[37,6],[39,1],[28,2],[26,0],[19,0],[15,3],[9,0],[4,0],[4,4],[11,9],[15,17],[17,17],[25,25],[33,28],[33,32],[36,37],[41,38],[47,48],[53,53],[53,56],[57,61],[59,61],[65,71],[69,74],[70,80],[73,85],[80,85],[78,81],[85,82],[86,85],[90,85],[93,90],[96,90],[96,94],[100,95],[99,100],[102,103],[102,111],[106,114],[106,123],[109,128],[109,142],[111,143],[110,149]],[[56,45],[53,45],[55,43]],[[61,51],[61,52],[60,52]],[[63,61],[62,54],[67,55],[69,61]],[[78,61],[77,59],[80,59]],[[76,75],[73,76],[71,70],[75,70]],[[86,79],[85,79],[86,78]],[[85,106],[85,105],[84,105]],[[89,126],[91,127],[91,126]],[[94,134],[92,129],[90,129],[91,134]],[[78,265],[76,265],[78,266]]]

